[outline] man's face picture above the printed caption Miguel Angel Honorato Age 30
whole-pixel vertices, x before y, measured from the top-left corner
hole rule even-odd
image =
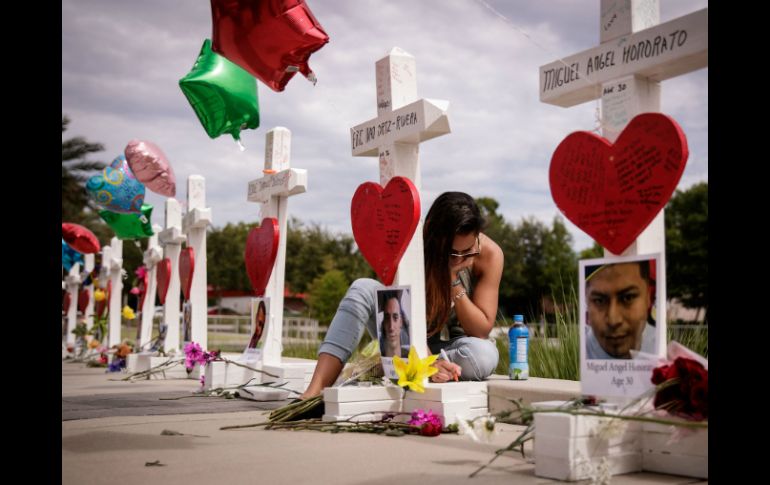
[[[655,353],[655,260],[585,267],[586,357],[630,359]]]

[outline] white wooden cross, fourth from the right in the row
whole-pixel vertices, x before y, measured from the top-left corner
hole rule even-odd
[[[206,207],[206,179],[201,175],[190,175],[187,178],[187,214],[182,219],[182,232],[187,235],[187,245],[195,252],[190,288],[192,341],[203,349],[208,347],[206,226],[209,224],[211,208]]]

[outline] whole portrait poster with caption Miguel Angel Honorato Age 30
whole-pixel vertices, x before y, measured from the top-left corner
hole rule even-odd
[[[580,261],[583,394],[634,398],[666,347],[665,279],[659,253]]]

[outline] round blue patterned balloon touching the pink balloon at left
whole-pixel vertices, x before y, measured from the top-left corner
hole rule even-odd
[[[142,213],[144,184],[137,180],[125,155],[118,156],[101,174],[88,179],[86,192],[105,210],[121,214]]]

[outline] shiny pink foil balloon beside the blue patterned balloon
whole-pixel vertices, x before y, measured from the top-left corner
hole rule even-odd
[[[125,149],[128,166],[137,180],[160,195],[176,195],[176,177],[166,155],[150,141],[131,140]]]

